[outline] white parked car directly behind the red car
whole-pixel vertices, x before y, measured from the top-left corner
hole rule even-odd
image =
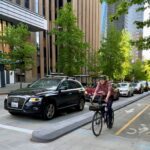
[[[132,87],[131,83],[119,83],[119,93],[120,96],[133,96],[134,88]]]

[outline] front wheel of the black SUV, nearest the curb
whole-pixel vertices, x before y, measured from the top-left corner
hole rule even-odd
[[[52,119],[55,115],[55,112],[56,112],[56,107],[53,103],[46,105],[43,111],[43,119],[45,120]]]

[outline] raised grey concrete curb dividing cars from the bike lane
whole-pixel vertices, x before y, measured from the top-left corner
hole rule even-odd
[[[144,93],[140,95],[139,97],[132,98],[130,101],[125,102],[123,104],[120,104],[119,106],[113,107],[114,111],[117,111],[123,107],[126,107],[127,105],[134,103],[146,96],[150,95],[150,92]],[[60,125],[53,125],[54,128],[51,126],[45,127],[44,129],[35,130],[32,133],[31,140],[34,142],[40,142],[40,143],[46,143],[56,140],[57,138],[72,132],[75,129],[80,128],[81,126],[84,126],[91,122],[93,117],[93,112],[88,112],[86,115],[83,115],[82,118],[79,120],[76,120],[76,122],[72,122],[69,125],[66,126],[60,126]]]

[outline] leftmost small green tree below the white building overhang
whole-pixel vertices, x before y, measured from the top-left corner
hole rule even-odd
[[[8,44],[10,51],[5,55],[7,62],[4,64],[10,65],[13,68],[20,69],[20,73],[25,73],[32,69],[33,56],[35,54],[35,46],[28,42],[30,32],[24,24],[17,26],[8,26],[5,28],[0,41]]]

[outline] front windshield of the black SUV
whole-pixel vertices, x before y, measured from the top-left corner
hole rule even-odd
[[[61,79],[40,79],[33,84],[31,84],[30,88],[46,88],[50,90],[56,90]]]

